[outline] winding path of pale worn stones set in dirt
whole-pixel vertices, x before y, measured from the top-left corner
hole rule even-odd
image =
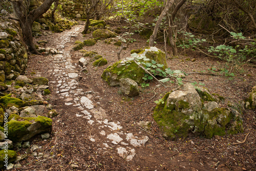
[[[79,117],[88,119],[91,127],[98,130],[99,134],[91,136],[91,141],[98,142],[97,139],[100,139],[105,148],[114,148],[121,157],[132,160],[136,154],[133,147],[143,146],[148,141],[148,137],[142,135],[136,137],[133,133],[125,132],[119,122],[105,119],[106,112],[100,107],[100,103],[94,106],[91,100],[97,93],[78,89],[79,82],[76,80],[79,76],[76,70],[78,61],[75,65],[72,64],[72,52],[68,51],[65,45],[71,41],[71,37],[80,34],[81,29],[82,26],[75,26],[69,31],[60,33],[56,40],[58,42],[56,48],[60,50],[60,54],[52,55],[49,60],[49,66],[52,67],[49,73],[54,78],[50,83],[57,85],[56,94],[65,101],[65,105],[80,111],[73,114],[74,116],[78,119]]]

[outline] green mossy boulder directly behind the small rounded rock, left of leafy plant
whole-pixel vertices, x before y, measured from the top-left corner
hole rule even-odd
[[[145,71],[133,60],[120,60],[106,68],[101,75],[102,79],[110,86],[118,86],[121,78],[131,78],[137,83],[143,81]]]

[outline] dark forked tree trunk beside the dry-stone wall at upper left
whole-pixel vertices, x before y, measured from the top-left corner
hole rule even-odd
[[[38,8],[28,12],[30,3],[29,0],[11,0],[13,10],[19,19],[20,27],[22,28],[24,41],[31,53],[40,54],[34,46],[32,25],[37,18],[50,9],[52,3],[55,1],[58,0],[45,0],[44,3],[42,3],[42,5],[40,5]]]

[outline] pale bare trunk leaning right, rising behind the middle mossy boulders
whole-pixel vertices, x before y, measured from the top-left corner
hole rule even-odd
[[[154,41],[155,41],[155,39],[156,39],[156,37],[157,37],[157,32],[158,32],[158,29],[159,29],[159,27],[160,27],[160,24],[162,23],[162,19],[163,19],[163,17],[167,14],[167,12],[168,12],[170,6],[172,6],[173,3],[174,3],[174,0],[169,0],[168,2],[166,2],[165,7],[164,7],[163,11],[161,12],[161,14],[160,14],[160,16],[159,16],[159,18],[158,18],[158,20],[157,20],[157,23],[156,23],[156,25],[155,25],[153,34],[150,36],[149,47],[154,46]]]

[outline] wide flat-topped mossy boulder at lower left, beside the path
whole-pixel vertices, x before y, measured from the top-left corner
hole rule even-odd
[[[27,141],[33,136],[50,132],[52,120],[47,117],[19,117],[11,115],[8,124],[8,138],[13,142]]]

